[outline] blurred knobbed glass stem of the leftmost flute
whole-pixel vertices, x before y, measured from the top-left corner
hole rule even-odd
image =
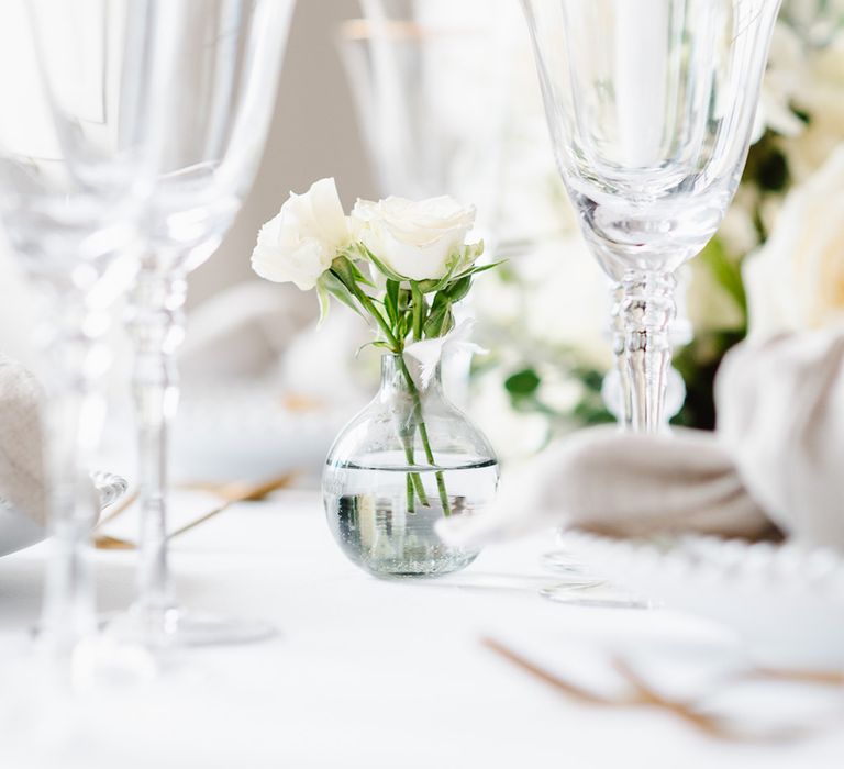
[[[89,462],[102,427],[103,400],[96,383],[110,356],[101,337],[107,313],[84,300],[56,296],[46,335],[45,471],[49,489],[47,561],[40,643],[65,655],[97,631],[91,530],[99,515]]]

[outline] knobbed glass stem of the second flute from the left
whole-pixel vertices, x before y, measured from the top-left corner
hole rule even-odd
[[[187,283],[182,275],[143,267],[133,296],[134,399],[141,487],[136,609],[166,623],[175,608],[167,565],[168,431],[179,389],[175,352],[185,334]]]

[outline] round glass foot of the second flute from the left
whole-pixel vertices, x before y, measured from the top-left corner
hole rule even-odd
[[[262,620],[218,616],[180,608],[132,609],[113,617],[106,633],[118,640],[151,648],[233,646],[269,640],[277,628]]]

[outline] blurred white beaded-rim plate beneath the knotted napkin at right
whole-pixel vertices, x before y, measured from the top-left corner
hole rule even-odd
[[[844,668],[844,557],[833,550],[696,535],[564,542],[608,580],[729,626],[759,665]]]

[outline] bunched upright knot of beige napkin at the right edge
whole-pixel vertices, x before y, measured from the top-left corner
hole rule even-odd
[[[715,394],[721,443],[771,521],[844,549],[844,325],[742,345]]]

